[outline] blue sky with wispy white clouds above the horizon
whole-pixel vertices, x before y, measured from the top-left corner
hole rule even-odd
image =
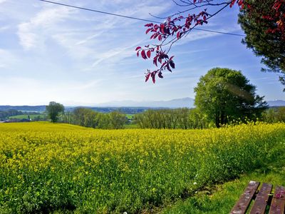
[[[177,11],[171,0],[54,0],[63,4],[161,21]],[[243,34],[238,8],[226,9],[202,29]],[[68,106],[110,101],[194,98],[200,76],[214,67],[242,71],[266,101],[285,100],[276,73],[261,72],[261,58],[242,37],[192,31],[173,46],[175,70],[145,83],[151,60],[135,48],[152,44],[147,22],[48,4],[0,0],[0,105]]]

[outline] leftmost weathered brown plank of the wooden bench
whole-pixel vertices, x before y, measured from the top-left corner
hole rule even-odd
[[[249,208],[249,204],[254,197],[254,193],[257,191],[259,187],[259,182],[257,181],[250,181],[247,188],[242,193],[239,201],[234,205],[234,208],[231,210],[231,214],[242,214],[247,212],[247,208]],[[282,213],[283,214],[283,213]]]

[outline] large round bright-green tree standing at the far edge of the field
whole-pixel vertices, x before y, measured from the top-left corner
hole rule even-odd
[[[254,120],[267,108],[256,87],[241,71],[212,68],[199,79],[195,88],[195,106],[217,128],[233,120]]]

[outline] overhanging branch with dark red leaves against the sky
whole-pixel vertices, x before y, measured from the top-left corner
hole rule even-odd
[[[135,49],[135,51],[137,51],[137,55],[141,56],[143,59],[146,60],[148,58],[152,58],[153,64],[157,67],[157,69],[153,71],[147,69],[147,72],[145,73],[145,81],[148,81],[151,77],[152,82],[155,83],[156,76],[163,78],[162,73],[164,71],[172,72],[172,69],[175,68],[175,62],[173,61],[174,56],[169,56],[172,45],[175,44],[176,41],[182,39],[182,37],[187,36],[192,29],[195,29],[196,26],[207,24],[210,18],[218,14],[227,6],[232,8],[234,4],[237,4],[240,9],[244,9],[244,6],[250,8],[250,4],[247,3],[247,0],[228,0],[224,2],[219,0],[180,0],[181,4],[178,4],[175,0],[172,1],[174,1],[178,6],[190,6],[190,8],[185,11],[172,14],[162,24],[145,24],[145,27],[147,27],[145,34],[151,34],[150,40],[157,41],[157,44],[143,47],[138,46]],[[205,8],[197,14],[185,15],[185,12],[206,6],[216,7],[217,11],[214,12],[214,14],[209,14],[207,13],[207,8]],[[271,17],[264,14],[266,19],[278,19],[278,21],[276,21],[276,29],[269,29],[268,33],[280,31],[284,35],[284,7],[285,0],[276,0],[274,6],[272,6],[272,9],[276,11],[275,16]]]

